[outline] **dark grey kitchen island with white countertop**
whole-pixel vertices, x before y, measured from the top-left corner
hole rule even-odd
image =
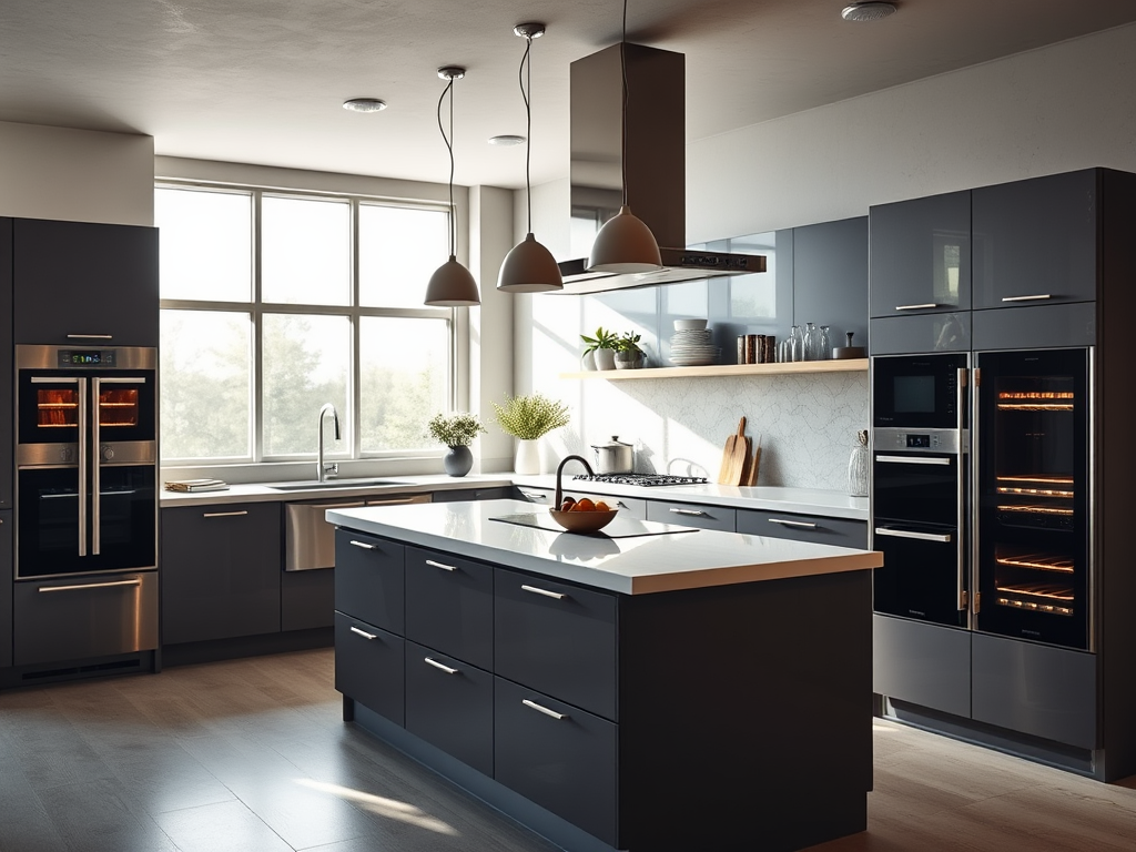
[[[792,850],[866,828],[878,553],[558,533],[511,500],[327,519],[344,719],[554,843]]]

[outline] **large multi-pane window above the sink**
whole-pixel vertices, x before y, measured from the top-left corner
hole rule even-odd
[[[423,300],[444,208],[160,185],[154,219],[164,463],[311,458],[325,402],[328,458],[436,449],[454,314]]]

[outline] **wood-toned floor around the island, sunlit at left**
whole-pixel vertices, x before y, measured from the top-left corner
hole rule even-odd
[[[1136,779],[875,743],[869,830],[812,852],[1136,850]],[[0,852],[551,849],[343,725],[331,651],[0,693]]]

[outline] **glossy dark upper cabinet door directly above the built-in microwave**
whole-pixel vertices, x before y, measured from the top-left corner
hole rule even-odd
[[[868,211],[871,316],[970,308],[970,192]]]

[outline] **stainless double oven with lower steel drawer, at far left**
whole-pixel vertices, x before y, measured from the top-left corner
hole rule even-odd
[[[158,646],[157,350],[16,348],[17,666]]]

